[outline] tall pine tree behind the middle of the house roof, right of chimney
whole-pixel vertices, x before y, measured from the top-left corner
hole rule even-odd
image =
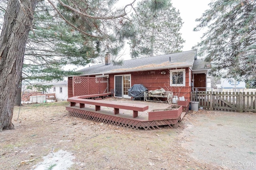
[[[170,0],[138,2],[132,19],[134,35],[129,42],[132,58],[181,51],[185,42],[179,33],[182,19]]]

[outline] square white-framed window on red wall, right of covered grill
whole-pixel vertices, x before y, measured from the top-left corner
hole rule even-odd
[[[170,86],[185,86],[185,69],[170,70]]]

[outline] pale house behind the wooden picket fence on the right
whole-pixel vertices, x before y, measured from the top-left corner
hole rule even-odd
[[[220,78],[221,88],[246,88],[245,82],[235,80],[234,78]]]

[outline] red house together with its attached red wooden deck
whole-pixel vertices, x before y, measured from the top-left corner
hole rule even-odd
[[[68,77],[70,106],[66,109],[72,116],[133,129],[156,129],[160,125],[176,127],[188,110],[192,89],[206,90],[209,69],[210,63],[197,59],[196,51],[127,60],[120,64],[110,62],[110,56],[106,55],[105,64],[84,68],[78,71],[81,72],[80,76]],[[148,102],[141,105],[100,100],[110,94],[118,98],[131,98],[128,89],[134,84],[143,84],[148,90],[163,88],[174,96],[184,97],[186,101],[150,111]],[[92,106],[95,106],[94,110]],[[114,113],[101,107],[112,107]],[[125,113],[132,111],[129,113],[132,116],[119,114],[119,109],[125,109]],[[146,116],[138,116],[138,111],[147,111]]]

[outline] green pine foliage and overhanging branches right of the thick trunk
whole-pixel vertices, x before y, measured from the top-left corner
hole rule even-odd
[[[104,59],[106,52],[112,59],[123,47],[114,31],[119,20],[106,21],[100,17],[123,12],[112,12],[116,0],[62,1],[74,10],[84,12],[88,17],[57,4],[56,8],[67,24],[47,1],[39,1],[34,11],[33,29],[30,31],[24,56],[22,79],[27,82],[49,82],[62,80],[63,76],[77,75],[75,70],[64,71],[68,65],[85,66]],[[1,2],[3,6],[4,2]],[[4,8],[0,8],[3,17]],[[98,16],[97,19],[92,16]],[[1,23],[0,23],[1,24]],[[76,29],[78,28],[78,29]]]

